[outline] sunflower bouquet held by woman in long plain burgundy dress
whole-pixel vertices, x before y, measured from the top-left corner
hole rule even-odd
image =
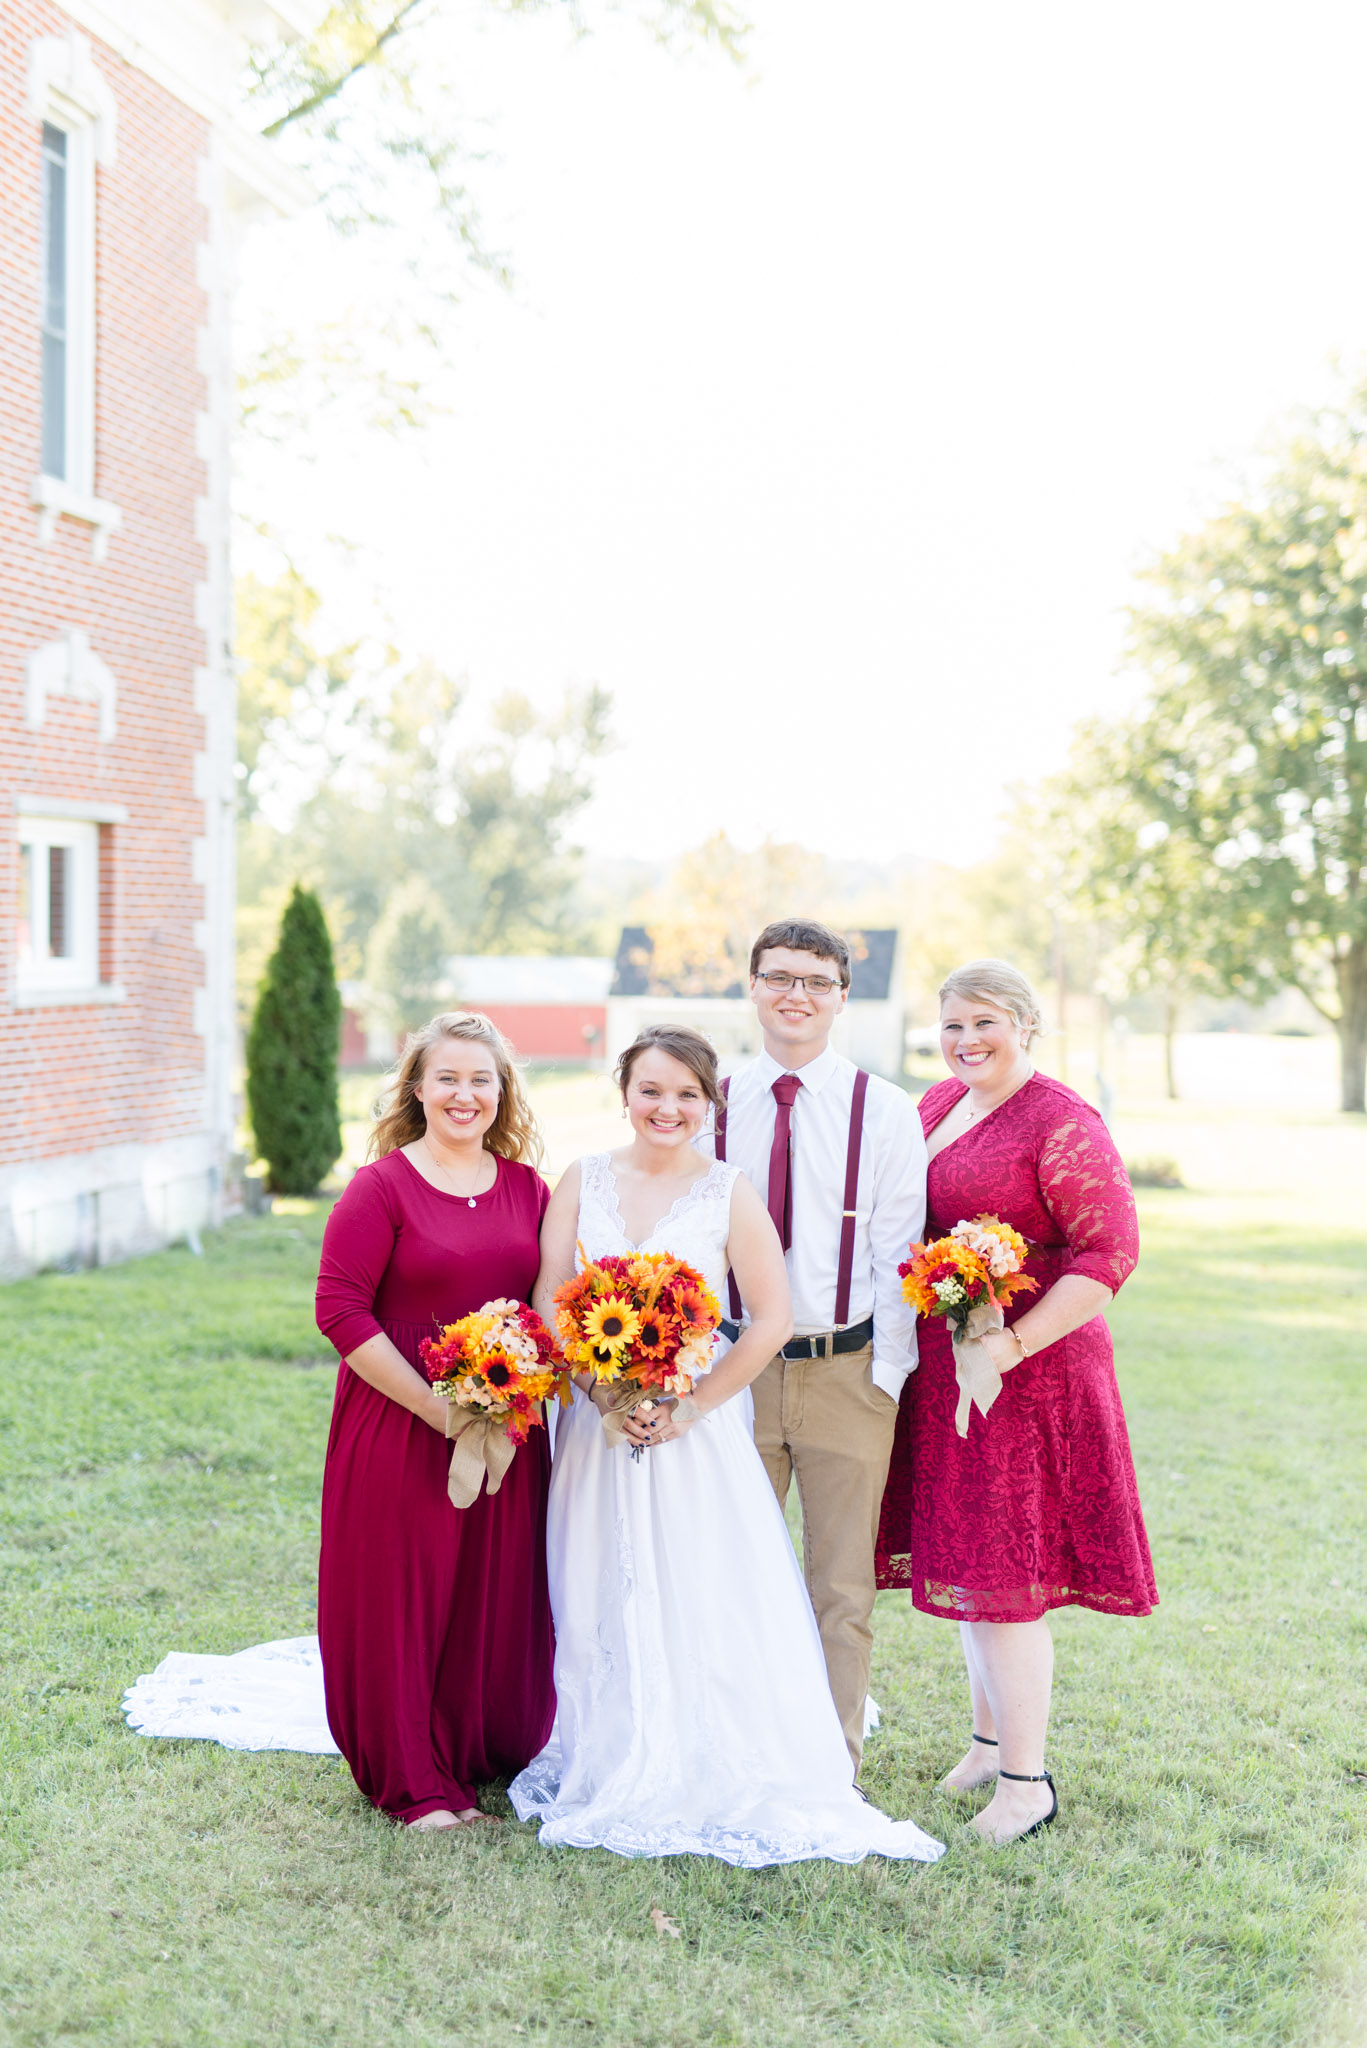
[[[545,1397],[560,1391],[568,1399],[555,1339],[525,1300],[486,1300],[439,1337],[424,1337],[418,1358],[447,1401],[447,1493],[469,1507],[486,1479],[498,1493],[512,1452],[545,1423]]]

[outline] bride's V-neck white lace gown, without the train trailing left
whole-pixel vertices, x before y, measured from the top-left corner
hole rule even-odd
[[[607,1153],[582,1161],[588,1257],[670,1251],[717,1300],[738,1169],[715,1163],[631,1245]],[[584,1395],[555,1434],[547,1550],[557,1716],[512,1780],[543,1843],[748,1870],[943,1843],[853,1786],[816,1618],[738,1395],[633,1460]]]

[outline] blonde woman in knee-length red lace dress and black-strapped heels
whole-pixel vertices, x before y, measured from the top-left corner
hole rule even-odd
[[[941,989],[953,1079],[920,1100],[930,1171],[926,1241],[980,1214],[1029,1241],[1039,1282],[984,1341],[1002,1374],[986,1415],[955,1432],[947,1321],[920,1323],[877,1540],[877,1583],[957,1620],[974,1741],[945,1788],[996,1778],[974,1819],[1010,1841],[1058,1812],[1045,1772],[1053,1677],[1049,1608],[1148,1614],[1158,1591],[1101,1311],[1133,1270],[1133,1196],[1111,1135],[1029,1057],[1039,999],[1004,961],[971,961]]]

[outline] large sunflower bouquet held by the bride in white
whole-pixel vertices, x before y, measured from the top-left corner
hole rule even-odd
[[[721,1309],[685,1260],[668,1251],[586,1260],[555,1294],[555,1329],[566,1364],[615,1382],[603,1417],[609,1444],[621,1444],[633,1409],[658,1395],[687,1395],[707,1370]],[[633,1450],[639,1458],[639,1446]]]

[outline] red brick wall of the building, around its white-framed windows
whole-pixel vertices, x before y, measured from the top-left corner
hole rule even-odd
[[[203,1126],[205,1049],[193,1028],[203,889],[191,840],[203,831],[193,756],[203,748],[195,668],[205,659],[195,412],[207,403],[197,369],[207,125],[92,39],[119,109],[117,164],[94,174],[94,489],[121,508],[123,528],[100,565],[90,528],[70,518],[43,549],[29,504],[39,473],[39,125],[25,90],[31,43],[66,31],[68,16],[47,0],[0,8],[0,1165]],[[49,696],[39,731],[25,725],[27,655],[64,627],[84,627],[119,680],[109,745],[96,707],[68,696]],[[100,836],[102,895],[113,897],[100,965],[127,1001],[12,1008],[16,791],[127,805],[129,823]]]

